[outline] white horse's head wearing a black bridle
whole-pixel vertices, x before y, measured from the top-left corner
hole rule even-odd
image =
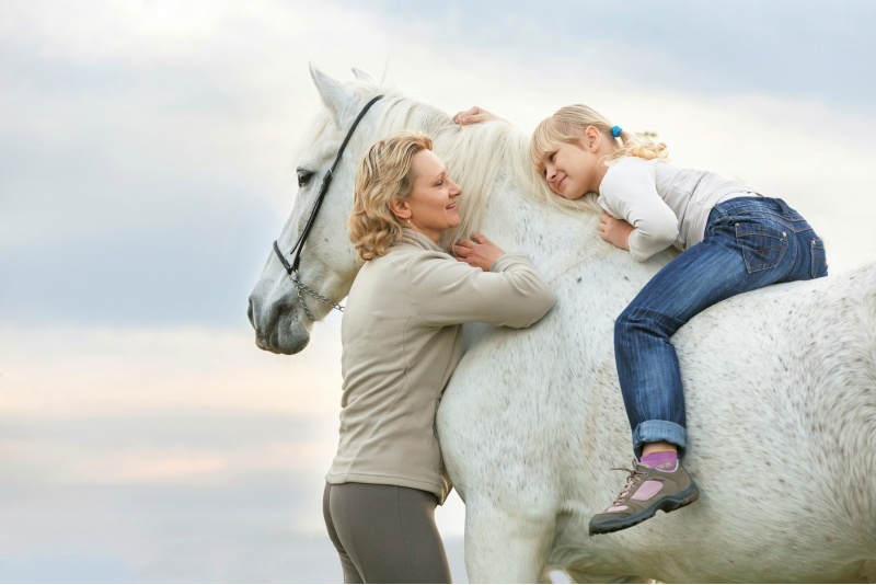
[[[255,343],[268,352],[301,352],[310,341],[313,322],[347,295],[359,269],[346,218],[358,161],[376,140],[373,119],[378,115],[365,116],[349,136],[346,151],[341,150],[362,106],[378,95],[378,87],[367,73],[353,71],[356,80],[344,84],[310,68],[324,107],[298,148],[298,194],[277,238],[277,253],[269,253],[250,295],[247,313]]]

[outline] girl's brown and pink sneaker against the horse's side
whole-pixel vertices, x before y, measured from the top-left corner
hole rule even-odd
[[[590,518],[590,536],[630,528],[653,517],[658,509],[669,513],[700,497],[696,484],[681,463],[673,471],[662,471],[633,459],[633,469],[620,471],[630,472],[626,486],[606,512]]]

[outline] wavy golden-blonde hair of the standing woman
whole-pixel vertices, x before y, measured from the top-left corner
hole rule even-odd
[[[411,161],[420,150],[431,150],[431,138],[401,131],[376,142],[359,164],[347,219],[359,262],[384,255],[402,240],[402,223],[389,204],[411,195]]]

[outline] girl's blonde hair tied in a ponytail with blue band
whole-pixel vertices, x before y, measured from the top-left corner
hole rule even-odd
[[[621,157],[639,157],[646,160],[669,158],[664,142],[654,142],[647,137],[625,130],[620,130],[615,138],[612,134],[614,125],[602,114],[592,107],[575,104],[561,107],[553,116],[543,119],[532,133],[529,158],[538,173],[544,176],[544,161],[550,152],[556,150],[560,142],[579,144],[588,126],[595,127],[606,138],[618,144],[618,149],[606,157],[606,162]]]

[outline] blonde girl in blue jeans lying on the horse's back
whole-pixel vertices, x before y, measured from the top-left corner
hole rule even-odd
[[[459,124],[495,117],[474,107]],[[679,463],[687,444],[684,394],[670,337],[696,313],[734,295],[827,275],[825,246],[782,199],[715,173],[667,161],[666,145],[623,131],[585,105],[544,119],[530,157],[551,191],[589,193],[604,210],[599,234],[642,262],[675,245],[684,251],[618,317],[614,353],[637,457],[626,485],[590,535],[623,530],[699,497]]]

